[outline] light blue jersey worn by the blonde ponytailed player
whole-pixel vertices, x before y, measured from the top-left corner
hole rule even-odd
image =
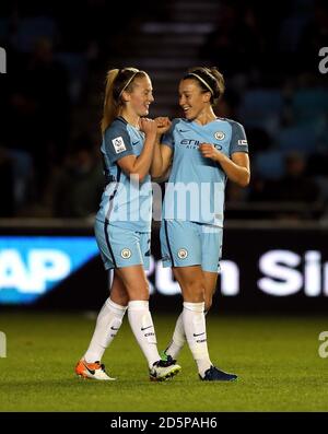
[[[105,131],[101,151],[104,160],[106,188],[96,219],[136,232],[150,232],[152,219],[152,185],[147,175],[136,183],[117,164],[127,155],[139,156],[144,133],[124,118],[116,118]]]

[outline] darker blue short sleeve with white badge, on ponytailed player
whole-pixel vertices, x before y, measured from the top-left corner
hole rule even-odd
[[[110,163],[115,163],[127,155],[134,155],[125,124],[110,126],[105,132],[104,144]]]

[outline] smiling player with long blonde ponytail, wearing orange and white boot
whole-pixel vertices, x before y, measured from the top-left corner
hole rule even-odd
[[[144,273],[150,259],[152,218],[149,171],[157,131],[157,124],[144,116],[153,101],[152,83],[144,71],[108,71],[101,148],[107,185],[96,215],[95,236],[105,269],[114,269],[114,278],[89,349],[75,367],[75,373],[86,378],[113,379],[101,360],[127,309],[131,329],[148,360],[150,378],[164,380],[180,370],[171,357],[162,361],[159,354]]]

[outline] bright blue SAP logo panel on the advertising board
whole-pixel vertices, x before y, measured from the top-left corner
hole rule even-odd
[[[35,302],[97,254],[91,236],[1,236],[0,303]]]

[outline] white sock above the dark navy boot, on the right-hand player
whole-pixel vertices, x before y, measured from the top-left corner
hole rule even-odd
[[[188,345],[197,363],[198,372],[203,377],[212,365],[207,343],[204,303],[184,303],[183,320]]]

